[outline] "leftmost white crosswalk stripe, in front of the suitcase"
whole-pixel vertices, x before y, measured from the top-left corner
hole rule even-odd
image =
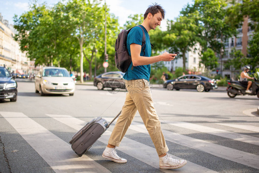
[[[96,172],[96,170],[105,173],[110,172],[86,155],[78,157],[71,149],[70,144],[67,144],[23,113],[0,112],[0,114],[55,172],[83,172],[82,170],[86,170],[84,172],[88,173]]]

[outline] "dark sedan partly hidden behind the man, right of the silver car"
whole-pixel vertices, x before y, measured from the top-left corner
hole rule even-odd
[[[107,72],[100,74],[94,78],[94,86],[97,86],[98,90],[103,88],[126,88],[123,75],[125,73],[120,71]]]

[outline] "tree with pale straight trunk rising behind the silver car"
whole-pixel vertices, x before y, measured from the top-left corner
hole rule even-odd
[[[102,8],[99,6],[97,1],[83,1],[83,0],[70,0],[66,5],[63,6],[63,11],[65,17],[69,16],[70,24],[68,27],[73,29],[72,35],[78,39],[80,46],[80,81],[83,82],[83,61],[84,55],[89,56],[90,50],[95,49],[94,45],[89,45],[91,39],[96,38],[98,33],[96,32],[99,28],[98,21],[103,23]],[[86,48],[84,51],[84,44]],[[90,49],[90,50],[89,50]],[[87,58],[86,57],[86,58]],[[92,56],[87,58],[90,61],[89,66],[92,66]],[[90,72],[90,77],[92,76],[92,70]]]

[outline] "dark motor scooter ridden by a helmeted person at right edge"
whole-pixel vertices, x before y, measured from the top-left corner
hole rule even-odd
[[[257,75],[259,76],[259,72],[257,72]],[[239,81],[227,81],[228,87],[227,87],[227,94],[230,98],[234,98],[237,95],[257,95],[259,98],[259,79],[256,79],[254,76],[254,82],[252,83],[250,90],[252,93],[246,93],[245,90],[247,86],[242,85]]]

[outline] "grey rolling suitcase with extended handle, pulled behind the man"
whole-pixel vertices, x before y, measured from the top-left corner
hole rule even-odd
[[[121,111],[120,111],[121,113]],[[120,115],[120,113],[108,123],[100,116],[88,122],[83,128],[81,128],[69,142],[72,144],[72,149],[78,156],[89,150],[90,147],[97,141],[99,137],[109,128],[112,122]]]

